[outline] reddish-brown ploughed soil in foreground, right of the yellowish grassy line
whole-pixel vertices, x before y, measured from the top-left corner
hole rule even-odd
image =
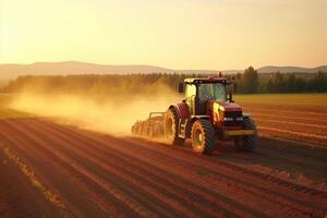
[[[325,148],[262,137],[254,154],[221,144],[208,157],[36,118],[0,121],[0,141],[74,217],[324,217],[327,209]]]

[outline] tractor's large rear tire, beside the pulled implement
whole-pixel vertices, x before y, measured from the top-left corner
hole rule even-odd
[[[183,145],[184,138],[178,135],[178,113],[174,109],[168,109],[165,114],[165,136],[169,144]]]

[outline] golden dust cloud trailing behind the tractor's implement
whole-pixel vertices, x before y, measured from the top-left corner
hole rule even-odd
[[[181,97],[162,88],[153,95],[112,96],[101,98],[81,95],[45,95],[24,92],[10,107],[32,114],[48,117],[65,124],[113,135],[129,135],[136,120],[145,120],[150,111],[166,111]]]

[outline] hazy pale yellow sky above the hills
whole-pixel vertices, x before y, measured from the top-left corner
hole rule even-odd
[[[0,0],[0,63],[327,64],[327,0]]]

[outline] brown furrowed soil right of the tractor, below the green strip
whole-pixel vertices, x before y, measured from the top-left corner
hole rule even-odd
[[[327,147],[326,107],[245,104],[244,110],[251,111],[262,136]]]

